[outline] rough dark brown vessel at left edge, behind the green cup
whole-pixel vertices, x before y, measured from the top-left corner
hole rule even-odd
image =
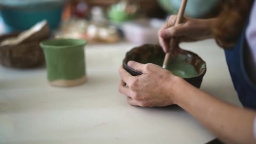
[[[48,25],[40,32],[36,32],[18,45],[4,45],[0,47],[0,64],[6,67],[30,68],[37,67],[44,62],[43,50],[40,42],[49,37]],[[19,33],[0,36],[0,42]]]

